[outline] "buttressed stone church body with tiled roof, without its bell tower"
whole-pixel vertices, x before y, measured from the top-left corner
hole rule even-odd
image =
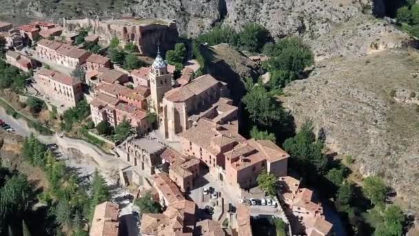
[[[228,109],[227,107],[231,103],[227,102],[227,100],[220,101],[221,97],[227,95],[226,83],[214,79],[211,75],[203,75],[187,83],[185,86],[165,92],[163,98],[163,117],[161,119],[161,127],[165,138],[176,140],[178,133],[192,126],[194,118],[217,110],[214,110],[213,105],[217,104],[218,101],[219,108],[223,107]],[[223,101],[226,102],[223,103]],[[236,109],[233,106],[231,108],[234,113]],[[223,110],[218,109],[218,114],[222,112]],[[224,112],[228,112],[228,110]]]

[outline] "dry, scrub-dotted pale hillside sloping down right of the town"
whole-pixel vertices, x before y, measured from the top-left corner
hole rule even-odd
[[[384,50],[325,60],[281,99],[297,124],[311,119],[327,146],[352,155],[354,169],[379,175],[419,212],[419,53]]]

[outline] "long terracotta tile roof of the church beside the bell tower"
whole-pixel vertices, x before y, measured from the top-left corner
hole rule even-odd
[[[216,80],[211,75],[203,75],[194,79],[191,83],[187,85],[174,88],[165,93],[165,99],[168,101],[179,102],[186,101],[194,95],[200,95],[202,92],[209,90],[210,88],[216,86],[220,81]]]

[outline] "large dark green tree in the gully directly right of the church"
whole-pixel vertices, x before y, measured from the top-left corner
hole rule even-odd
[[[285,118],[285,112],[263,86],[254,86],[242,101],[254,124],[272,126],[274,122]]]

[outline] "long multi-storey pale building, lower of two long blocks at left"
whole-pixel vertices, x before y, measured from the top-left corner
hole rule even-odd
[[[82,83],[77,79],[45,68],[36,72],[34,79],[43,89],[44,95],[66,107],[76,106],[83,99]]]

